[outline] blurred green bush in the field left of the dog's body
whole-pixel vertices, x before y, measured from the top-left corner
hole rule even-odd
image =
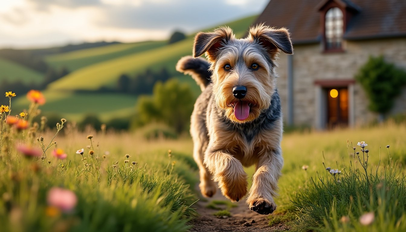
[[[140,124],[152,121],[171,126],[176,132],[184,132],[190,124],[194,98],[190,87],[176,79],[157,82],[153,95],[141,96],[138,100],[137,119]]]

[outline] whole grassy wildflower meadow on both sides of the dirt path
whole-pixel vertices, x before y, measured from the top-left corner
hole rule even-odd
[[[28,97],[24,117],[11,113],[12,104],[1,108],[5,231],[187,231],[193,226],[199,217],[195,202],[205,199],[195,190],[198,171],[190,137],[148,140],[147,129],[80,132],[66,119],[47,129],[32,123],[41,117],[37,108],[43,107],[43,96]],[[404,231],[405,136],[405,124],[391,121],[285,134],[278,208],[268,217],[270,227]],[[361,141],[367,146],[357,145]],[[247,169],[248,176],[252,171]]]

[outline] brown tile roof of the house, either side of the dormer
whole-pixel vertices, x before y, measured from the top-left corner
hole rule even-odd
[[[406,37],[405,0],[336,1],[358,11],[347,24],[345,39]],[[322,39],[319,9],[325,2],[327,1],[270,0],[256,24],[286,27],[296,44],[317,43]]]

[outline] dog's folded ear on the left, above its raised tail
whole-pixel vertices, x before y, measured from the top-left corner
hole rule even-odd
[[[209,33],[199,32],[194,37],[193,57],[199,57],[206,52],[209,62],[213,62],[218,50],[234,38],[233,30],[229,27],[220,27]]]

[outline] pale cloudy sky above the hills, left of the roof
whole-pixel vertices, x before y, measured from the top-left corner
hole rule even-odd
[[[261,13],[269,0],[0,0],[0,48],[166,39]]]

